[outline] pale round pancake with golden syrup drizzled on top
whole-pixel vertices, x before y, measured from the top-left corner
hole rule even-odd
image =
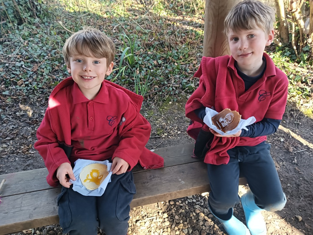
[[[93,163],[85,166],[79,178],[81,183],[89,190],[99,188],[105,177],[109,174],[108,167],[104,164]]]

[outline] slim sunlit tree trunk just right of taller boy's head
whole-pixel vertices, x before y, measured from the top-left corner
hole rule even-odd
[[[284,6],[284,0],[275,0],[276,14],[279,22],[279,34],[281,42],[286,45],[289,42],[289,30],[288,22],[286,19],[286,11]]]

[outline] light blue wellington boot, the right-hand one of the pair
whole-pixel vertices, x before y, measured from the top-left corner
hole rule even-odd
[[[266,235],[266,224],[261,214],[263,209],[254,203],[254,195],[250,188],[241,197],[241,205],[244,209],[246,224],[252,235]]]

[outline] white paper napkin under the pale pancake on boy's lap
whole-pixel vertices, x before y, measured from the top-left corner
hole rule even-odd
[[[93,164],[93,163],[100,163],[100,164],[107,165],[109,174],[107,175],[107,177],[105,177],[103,182],[100,184],[99,188],[96,188],[94,190],[88,190],[81,183],[80,178],[79,178],[79,174],[85,166],[87,166],[89,164]],[[111,169],[112,163],[110,163],[108,160],[92,161],[92,160],[86,160],[86,159],[78,159],[74,162],[74,164],[75,164],[75,166],[73,169],[73,173],[74,173],[76,180],[75,181],[71,180],[71,179],[69,180],[69,183],[73,184],[73,190],[84,195],[84,196],[101,196],[104,193],[104,190],[105,190],[106,186],[108,185],[108,183],[111,182],[112,172],[110,172],[110,169]]]

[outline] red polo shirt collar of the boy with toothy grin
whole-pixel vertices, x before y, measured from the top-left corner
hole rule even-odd
[[[79,89],[79,87],[78,87],[76,82],[74,82],[74,85],[73,85],[73,88],[72,88],[72,96],[73,96],[73,103],[74,104],[90,101],[80,91],[80,89]],[[94,101],[95,102],[99,102],[99,103],[103,103],[103,104],[109,103],[109,92],[108,92],[108,89],[105,86],[105,81],[104,80],[101,83],[100,91],[99,91],[98,95],[95,97]]]

